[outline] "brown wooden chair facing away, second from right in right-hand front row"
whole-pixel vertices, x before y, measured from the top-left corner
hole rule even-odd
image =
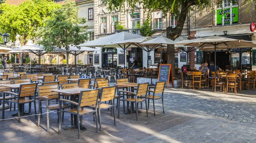
[[[236,87],[239,87],[239,83],[236,82],[237,74],[227,74],[227,83],[226,83],[226,93],[228,92],[228,88],[231,88],[231,92],[233,92],[233,88],[235,93],[237,94]]]

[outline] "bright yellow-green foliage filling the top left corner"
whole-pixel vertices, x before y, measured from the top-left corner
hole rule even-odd
[[[3,3],[0,5],[0,31],[7,31],[10,40],[19,39],[22,45],[26,44],[28,39],[38,38],[35,31],[43,26],[43,20],[50,17],[51,11],[58,7],[52,0],[28,0],[19,6]]]

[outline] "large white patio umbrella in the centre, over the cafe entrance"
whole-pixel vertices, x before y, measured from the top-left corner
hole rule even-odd
[[[128,47],[137,47],[135,45],[132,44],[116,44],[114,42],[118,42],[118,41],[124,41],[124,40],[128,40],[128,39],[135,39],[135,38],[143,38],[143,36],[137,35],[137,34],[132,34],[129,32],[120,32],[120,33],[116,33],[116,34],[112,34],[109,36],[105,36],[99,39],[95,39],[93,41],[88,41],[85,42],[83,44],[80,45],[76,45],[76,46],[80,46],[80,47],[108,47],[108,48],[122,48],[125,50]]]

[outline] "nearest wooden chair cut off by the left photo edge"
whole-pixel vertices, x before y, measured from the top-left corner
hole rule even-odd
[[[7,75],[8,76],[8,75]],[[4,87],[3,85],[10,85],[11,84],[11,80],[3,80],[3,81],[0,81],[0,105],[1,105],[1,101],[3,100],[3,92],[4,91],[12,91],[11,88],[9,87]],[[15,99],[16,97],[15,96],[12,96],[12,95],[8,95],[8,96],[5,96],[5,100],[12,100],[12,99]],[[14,104],[14,110],[16,109],[15,108],[15,105]],[[12,103],[10,104],[10,111],[12,111]]]

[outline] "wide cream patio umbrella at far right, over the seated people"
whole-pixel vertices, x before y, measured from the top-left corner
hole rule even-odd
[[[204,38],[192,39],[192,40],[183,40],[179,42],[175,42],[177,45],[185,45],[185,46],[193,46],[198,48],[204,47],[213,47],[214,48],[214,62],[216,69],[216,48],[217,47],[256,47],[256,42],[246,41],[246,40],[238,40],[221,36],[209,36]]]

